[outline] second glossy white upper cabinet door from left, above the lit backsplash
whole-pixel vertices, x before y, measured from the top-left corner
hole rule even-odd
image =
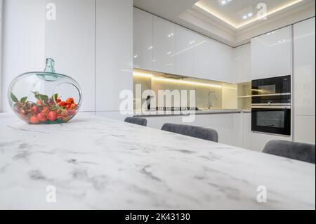
[[[154,71],[176,74],[176,25],[154,16]]]

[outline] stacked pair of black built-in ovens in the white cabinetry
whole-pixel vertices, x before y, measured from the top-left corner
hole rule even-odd
[[[291,76],[252,81],[251,130],[291,136]]]

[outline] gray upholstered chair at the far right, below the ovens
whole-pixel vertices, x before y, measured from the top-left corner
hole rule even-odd
[[[272,140],[265,145],[263,152],[315,164],[315,145]]]

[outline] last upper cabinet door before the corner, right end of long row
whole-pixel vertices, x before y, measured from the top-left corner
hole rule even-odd
[[[211,40],[211,79],[214,81],[224,81],[233,83],[232,53],[230,46]]]

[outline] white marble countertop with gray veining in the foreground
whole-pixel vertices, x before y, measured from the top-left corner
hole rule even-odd
[[[315,165],[84,113],[0,114],[0,209],[315,209]]]

